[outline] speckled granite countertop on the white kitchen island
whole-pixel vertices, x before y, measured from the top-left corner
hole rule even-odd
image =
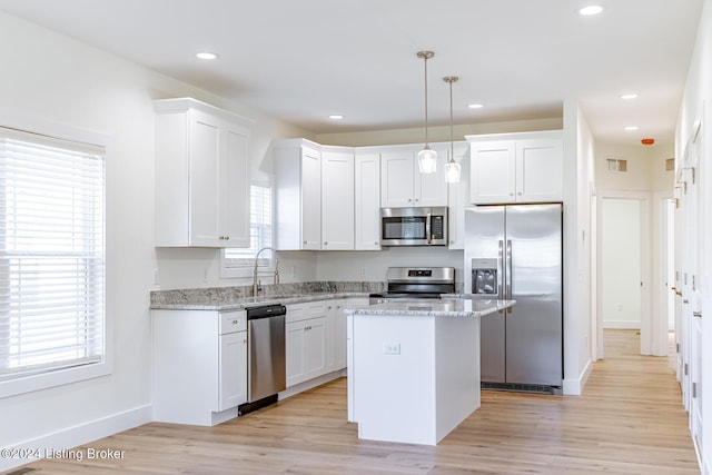
[[[405,317],[481,317],[512,307],[515,300],[484,300],[472,298],[399,299],[364,308],[346,308],[346,315]]]

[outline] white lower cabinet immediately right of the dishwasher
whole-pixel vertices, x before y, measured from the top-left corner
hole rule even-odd
[[[287,306],[287,387],[327,373],[324,301]]]

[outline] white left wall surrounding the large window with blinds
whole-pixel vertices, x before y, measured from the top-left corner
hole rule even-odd
[[[154,248],[151,100],[191,96],[256,119],[259,128],[250,141],[256,171],[270,170],[271,137],[305,132],[1,12],[0,38],[3,125],[29,116],[38,123],[57,122],[110,137],[106,313],[113,320],[113,373],[0,402],[0,447],[71,447],[150,418],[154,269],[160,268],[167,283],[199,286],[200,273],[214,266],[217,256]],[[315,276],[313,263],[303,260],[296,259],[307,268],[307,277]],[[212,268],[210,273],[212,278]],[[18,463],[0,459],[0,471]]]

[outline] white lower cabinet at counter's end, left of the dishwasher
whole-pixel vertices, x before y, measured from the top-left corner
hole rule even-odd
[[[154,420],[212,426],[247,400],[245,310],[152,310]]]

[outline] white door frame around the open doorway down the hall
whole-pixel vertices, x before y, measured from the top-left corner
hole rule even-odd
[[[623,191],[623,190],[599,190],[596,197],[596,356],[603,358],[605,355],[603,348],[603,200],[604,199],[633,199],[640,201],[641,205],[641,280],[643,283],[641,289],[641,354],[656,355],[653,353],[659,350],[659,345],[652,344],[652,326],[653,317],[651,313],[651,295],[652,295],[652,250],[651,250],[651,194],[646,191]],[[656,356],[666,355],[666,340],[663,345],[665,353]]]

